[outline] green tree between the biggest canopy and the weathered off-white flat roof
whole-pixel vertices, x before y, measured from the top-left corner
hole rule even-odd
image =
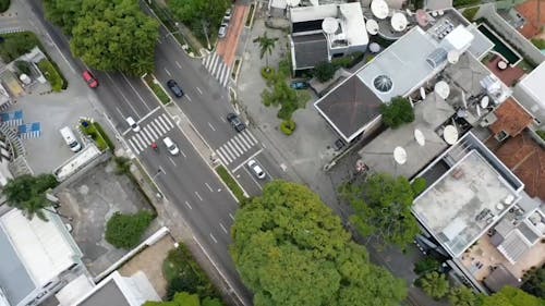
[[[350,222],[364,236],[405,248],[420,232],[411,213],[413,191],[403,176],[372,174],[365,182],[346,184],[340,194],[354,209]]]

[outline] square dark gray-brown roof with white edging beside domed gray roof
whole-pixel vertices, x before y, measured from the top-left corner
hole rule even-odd
[[[380,99],[356,75],[352,75],[316,101],[314,107],[346,142],[351,142],[380,114],[382,105]]]

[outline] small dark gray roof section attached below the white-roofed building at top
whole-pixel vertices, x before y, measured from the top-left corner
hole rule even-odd
[[[292,36],[295,68],[310,69],[328,60],[327,41],[323,33]]]

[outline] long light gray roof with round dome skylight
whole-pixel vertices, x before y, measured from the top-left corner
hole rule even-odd
[[[405,96],[432,78],[446,61],[437,68],[426,62],[427,57],[438,49],[438,44],[419,26],[393,42],[358,72],[358,77],[370,87],[382,101],[396,96]],[[445,59],[446,60],[446,59]],[[377,76],[388,76],[393,86],[380,91],[374,86]]]

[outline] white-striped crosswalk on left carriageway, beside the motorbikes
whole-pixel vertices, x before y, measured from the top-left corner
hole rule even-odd
[[[149,148],[152,143],[158,142],[162,135],[174,127],[174,124],[166,113],[161,113],[141,127],[142,131],[134,133],[134,135],[129,138],[129,144],[136,154]]]

